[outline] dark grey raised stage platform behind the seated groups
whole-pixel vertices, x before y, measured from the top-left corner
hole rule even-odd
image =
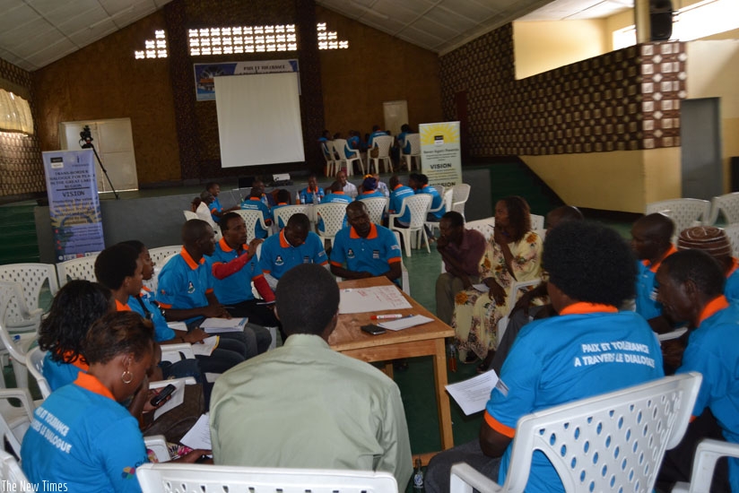
[[[401,181],[407,185],[407,172],[398,174]],[[390,174],[380,175],[380,179],[387,184]],[[290,191],[291,199],[295,194],[307,186],[306,177],[293,179],[293,185],[280,186]],[[349,181],[359,186],[362,177],[354,175]],[[318,186],[326,188],[334,180],[328,177],[318,177]],[[470,197],[465,204],[467,221],[483,219],[492,215],[491,181],[487,168],[463,169],[462,181],[473,185]],[[221,195],[219,199],[224,208],[230,207],[248,195],[250,188],[239,188],[237,180],[219,180]],[[120,192],[120,200],[116,200],[112,193],[100,194],[100,212],[102,214],[102,229],[105,245],[115,245],[126,239],[138,239],[147,247],[165,247],[179,245],[180,229],[185,221],[183,211],[190,210],[190,203],[196,195],[204,190],[204,185],[146,188],[142,190]],[[274,187],[266,187],[267,193]],[[16,203],[15,205],[17,205]],[[51,231],[48,206],[34,208],[36,235],[39,241],[39,261],[46,264],[56,264],[54,258],[54,240]]]

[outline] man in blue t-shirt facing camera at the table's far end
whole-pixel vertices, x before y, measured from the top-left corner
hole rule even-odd
[[[403,272],[395,233],[373,224],[361,201],[346,206],[346,218],[349,226],[336,233],[331,249],[331,272],[346,279],[384,275],[397,283]]]

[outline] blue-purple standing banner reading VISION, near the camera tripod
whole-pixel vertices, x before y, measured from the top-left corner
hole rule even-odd
[[[57,262],[100,253],[105,243],[92,150],[42,154]]]

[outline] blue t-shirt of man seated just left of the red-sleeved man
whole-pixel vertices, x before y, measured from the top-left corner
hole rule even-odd
[[[165,309],[189,309],[208,306],[207,294],[213,292],[213,273],[205,257],[193,260],[183,247],[179,255],[164,264],[159,273],[157,303]],[[201,317],[183,320],[186,324]]]

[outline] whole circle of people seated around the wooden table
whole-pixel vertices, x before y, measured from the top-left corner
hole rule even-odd
[[[391,203],[393,193],[409,195],[397,177],[389,185]],[[332,186],[329,195],[342,191]],[[23,440],[29,480],[136,491],[135,468],[149,461],[142,432],[167,416],[152,419],[156,393],[149,383],[192,376],[210,411],[214,463],[389,471],[403,489],[413,466],[397,385],[327,343],[338,319],[334,276],[397,281],[401,250],[389,229],[370,221],[365,203],[345,203],[347,225],[330,255],[301,213],[279,234],[248,245],[235,212],[218,211],[217,242],[208,222],[187,221],[182,250],[161,269],[154,293],[143,286],[154,265],[141,242],[103,251],[95,265],[99,282],[67,283],[41,326],[44,374],[54,392]],[[458,462],[504,481],[517,419],[526,414],[665,373],[703,374],[693,411],[700,418],[666,457],[666,482],[686,479],[680,475],[689,474],[700,437],[739,442],[739,263],[723,230],[682,231],[675,248],[672,221],[661,214],[634,224],[631,245],[613,229],[583,221],[573,207],[555,209],[547,222],[545,235],[532,230],[528,204],[517,196],[496,203],[488,236],[465,229],[457,212],[440,219],[446,272],[437,282],[439,318],[455,328],[460,359],[496,368],[500,384],[491,391],[479,440],[432,459],[428,491],[447,491]],[[536,278],[545,281],[509,299],[512,283]],[[497,325],[511,308],[499,345]],[[516,313],[526,315],[517,322]],[[212,353],[161,362],[161,345],[203,341],[206,317],[241,316],[249,324],[220,334]],[[183,324],[172,328],[173,322]],[[680,324],[689,331],[678,347],[660,347],[656,333]],[[282,347],[267,351],[265,327],[278,327]],[[613,358],[594,358],[606,352]],[[210,374],[220,374],[214,384]],[[175,455],[195,462],[209,452]],[[729,461],[735,491],[737,467]],[[563,490],[541,454],[526,490]]]

